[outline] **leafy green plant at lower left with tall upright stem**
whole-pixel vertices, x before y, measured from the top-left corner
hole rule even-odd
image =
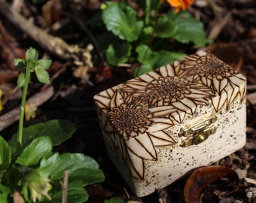
[[[65,192],[68,202],[84,202],[88,198],[84,186],[105,179],[98,163],[89,156],[81,153],[53,153],[53,146],[66,141],[75,132],[75,126],[69,120],[49,120],[23,128],[30,74],[35,73],[41,83],[49,83],[45,69],[50,63],[47,59],[38,60],[38,52],[32,48],[26,51],[26,59],[14,60],[17,67],[24,68],[17,81],[18,86],[23,87],[23,96],[17,134],[10,141],[0,136],[2,203],[13,202],[17,194],[26,202],[59,203]],[[66,189],[60,184],[65,171],[69,173]]]

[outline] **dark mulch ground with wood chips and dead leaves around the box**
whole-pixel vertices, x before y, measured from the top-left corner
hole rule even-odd
[[[0,112],[1,135],[8,139],[17,131],[17,114],[12,110],[20,104],[21,91],[17,89],[19,71],[14,67],[13,60],[17,57],[23,58],[27,48],[35,47],[40,56],[53,60],[49,69],[52,83],[44,86],[33,83],[29,86],[30,104],[37,111],[36,117],[26,121],[25,125],[50,119],[68,119],[75,123],[77,130],[72,138],[54,150],[59,153],[84,153],[99,162],[105,173],[105,182],[86,186],[90,194],[88,202],[104,202],[105,199],[115,196],[130,202],[184,202],[184,185],[189,176],[158,192],[138,198],[126,186],[108,159],[93,105],[93,95],[130,79],[132,70],[106,65],[96,49],[92,53],[88,51],[90,47],[87,44],[92,43],[90,35],[96,36],[102,30],[87,28],[81,22],[96,15],[101,2],[48,1],[49,8],[43,3],[35,6],[30,1],[8,1],[8,4],[3,5],[4,3],[0,2],[0,89],[4,105]],[[14,14],[6,10],[6,5],[51,36],[62,38],[68,44],[86,47],[83,51],[88,56],[84,57],[79,53],[66,54],[69,53],[69,47],[63,44],[49,51],[47,46],[50,45],[45,40],[47,37],[39,41],[32,39],[32,32],[37,30],[26,27],[26,23],[16,22]],[[51,12],[47,14],[51,15],[44,15],[43,7],[46,7],[46,11],[50,9],[48,11]],[[207,50],[236,68],[248,80],[245,147],[215,164],[232,168],[238,174],[239,180],[236,180],[236,186],[227,179],[212,184],[205,183],[202,202],[256,202],[256,2],[197,0],[189,11],[197,20],[203,22],[208,38],[213,41]],[[60,54],[56,54],[58,50]],[[190,47],[187,52],[195,50],[197,47]],[[81,68],[90,63],[93,64],[91,68]],[[53,89],[49,90],[51,87]],[[40,94],[35,96],[38,92]],[[7,115],[11,117],[10,120],[6,119]]]

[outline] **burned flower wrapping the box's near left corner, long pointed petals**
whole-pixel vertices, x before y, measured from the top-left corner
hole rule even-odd
[[[173,138],[163,131],[173,125],[172,120],[154,115],[144,102],[134,100],[133,95],[123,99],[118,89],[107,89],[94,99],[99,105],[96,109],[105,135],[126,165],[130,165],[133,176],[143,179],[144,160],[157,161],[155,147],[175,144]],[[153,123],[161,123],[157,132]]]

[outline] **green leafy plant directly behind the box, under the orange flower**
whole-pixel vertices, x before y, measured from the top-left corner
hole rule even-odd
[[[108,32],[102,41],[108,43],[102,47],[108,64],[139,62],[134,71],[134,76],[139,76],[186,56],[177,51],[180,44],[206,45],[203,23],[187,11],[160,15],[162,1],[145,0],[138,4],[142,15],[128,3],[106,2],[102,20]]]

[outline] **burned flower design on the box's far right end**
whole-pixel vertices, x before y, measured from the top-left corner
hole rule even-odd
[[[245,78],[211,53],[200,51],[187,56],[177,67],[183,77],[193,76],[193,82],[216,92],[211,99],[217,112],[224,106],[229,108],[238,94],[241,100],[245,98]]]

